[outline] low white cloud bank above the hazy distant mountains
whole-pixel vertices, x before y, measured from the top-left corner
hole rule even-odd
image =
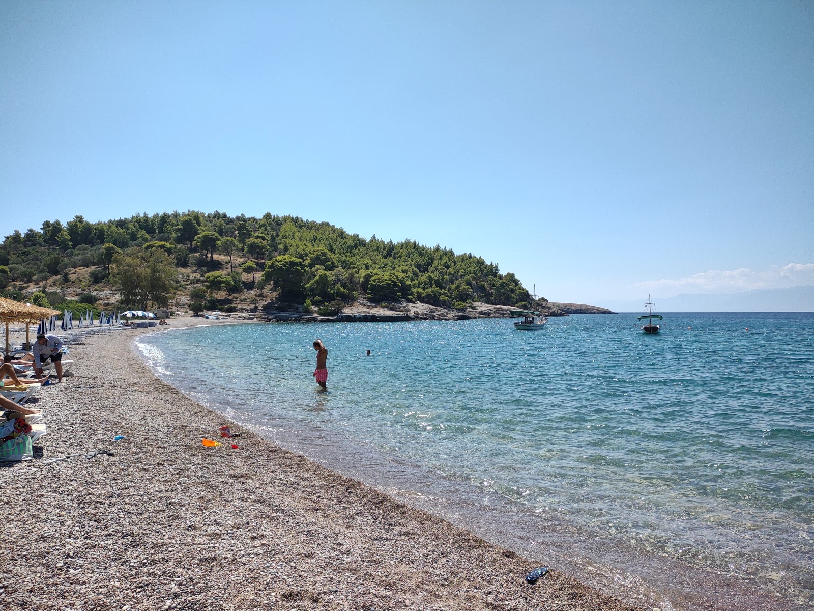
[[[634,284],[634,288],[661,292],[662,298],[675,297],[682,292],[742,292],[758,288],[790,288],[801,284],[814,284],[814,263],[789,263],[772,266],[768,270],[710,270],[680,279],[648,280]],[[672,294],[667,296],[667,291]]]

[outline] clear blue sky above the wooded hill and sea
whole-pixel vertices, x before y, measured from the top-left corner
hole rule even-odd
[[[552,301],[814,284],[814,2],[2,2],[0,209],[291,213]]]

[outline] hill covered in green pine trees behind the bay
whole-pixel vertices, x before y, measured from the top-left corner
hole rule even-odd
[[[410,240],[365,240],[297,217],[217,211],[106,222],[77,216],[64,225],[46,221],[38,231],[15,231],[0,245],[0,289],[22,298],[34,288],[90,296],[114,289],[120,305],[140,307],[165,305],[175,294],[201,306],[224,294],[258,303],[268,291],[281,303],[335,311],[359,297],[456,309],[472,301],[529,301],[514,274],[501,274],[497,264],[472,254]]]

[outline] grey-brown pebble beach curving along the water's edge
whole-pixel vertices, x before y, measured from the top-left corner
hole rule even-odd
[[[204,447],[233,423],[157,380],[138,333],[89,337],[37,391],[44,458],[115,455],[0,471],[2,609],[641,609],[529,585],[540,564],[251,432]]]

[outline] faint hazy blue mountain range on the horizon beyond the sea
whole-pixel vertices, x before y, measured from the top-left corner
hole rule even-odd
[[[610,301],[603,304],[615,312],[641,312],[647,296],[639,301]],[[653,297],[659,312],[814,312],[814,286],[760,288],[722,295],[682,293],[676,297]]]

